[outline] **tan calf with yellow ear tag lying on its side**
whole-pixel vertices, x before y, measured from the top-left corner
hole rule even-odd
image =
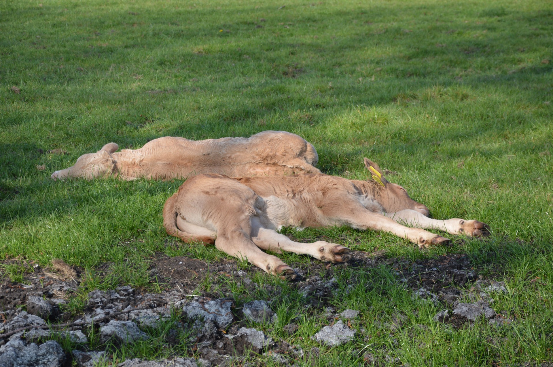
[[[291,241],[276,232],[282,226],[348,225],[394,233],[419,247],[450,242],[423,228],[454,235],[488,234],[487,225],[476,220],[429,218],[428,208],[411,199],[403,187],[388,182],[377,164],[365,158],[365,166],[378,172],[379,179],[349,180],[326,174],[197,175],[166,201],[163,224],[169,235],[185,242],[215,243],[221,251],[289,280],[298,274],[262,250],[309,254],[333,263],[351,259],[351,253],[336,243]]]

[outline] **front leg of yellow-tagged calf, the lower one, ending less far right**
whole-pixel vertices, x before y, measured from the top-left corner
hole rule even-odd
[[[392,219],[372,211],[365,209],[363,206],[345,203],[338,215],[335,217],[342,221],[347,221],[353,228],[359,230],[371,229],[374,231],[385,231],[394,233],[394,235],[406,238],[409,241],[416,243],[420,248],[430,247],[432,244],[450,243],[445,237],[435,235],[420,228],[410,228],[403,226]],[[353,206],[353,208],[352,208]]]

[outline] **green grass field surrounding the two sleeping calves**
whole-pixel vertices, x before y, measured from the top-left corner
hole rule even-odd
[[[0,0],[0,257],[41,266],[62,258],[82,269],[69,303],[76,314],[97,288],[164,289],[149,272],[158,254],[226,258],[165,235],[161,208],[181,182],[54,182],[50,174],[110,141],[140,147],[160,136],[286,130],[314,144],[322,171],[364,179],[369,157],[433,217],[478,219],[492,236],[449,236],[451,247],[420,250],[349,228],[286,233],[385,250],[387,259],[467,254],[483,279],[505,282],[508,292],[492,306],[513,320],[500,328],[437,323],[444,305],[412,299],[392,266],[347,268],[335,275],[340,295],[331,304],[361,311],[360,331],[298,365],[361,364],[365,353],[383,365],[553,362],[552,39],[547,0]],[[317,263],[282,257],[297,267]],[[14,282],[27,270],[0,268]],[[346,293],[351,279],[372,286]],[[254,292],[230,295],[238,304],[278,286],[278,326],[302,313],[293,285],[253,280]],[[198,291],[217,288],[206,281]],[[319,346],[310,338],[323,312],[300,317],[294,336],[256,327],[309,349]],[[398,313],[403,328],[380,333],[374,321]],[[193,354],[187,345],[148,347],[121,353]]]

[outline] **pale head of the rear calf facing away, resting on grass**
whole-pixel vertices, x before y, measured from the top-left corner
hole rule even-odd
[[[73,166],[54,172],[51,178],[55,180],[77,177],[92,179],[111,174],[116,169],[116,161],[111,154],[118,148],[116,143],[107,143],[96,153],[80,156]]]

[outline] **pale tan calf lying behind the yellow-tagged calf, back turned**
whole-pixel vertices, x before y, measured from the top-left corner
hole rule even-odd
[[[118,150],[107,143],[96,153],[77,159],[74,166],[56,171],[53,179],[106,177],[124,180],[169,180],[201,173],[230,176],[319,173],[315,147],[286,131],[262,131],[251,137],[189,140],[160,137],[142,148]]]

